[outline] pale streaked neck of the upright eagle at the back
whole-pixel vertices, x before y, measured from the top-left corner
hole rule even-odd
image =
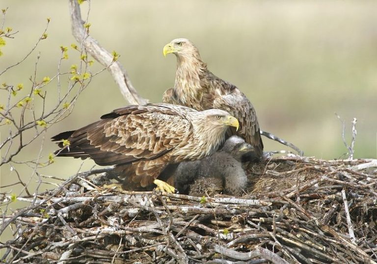
[[[182,104],[198,109],[202,97],[200,76],[207,65],[197,55],[178,55],[174,89]]]

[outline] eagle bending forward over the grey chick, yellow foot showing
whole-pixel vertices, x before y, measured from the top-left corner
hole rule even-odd
[[[98,165],[115,165],[125,189],[155,183],[162,190],[173,191],[155,179],[169,165],[214,153],[229,126],[238,128],[239,122],[223,110],[196,111],[163,103],[131,105],[52,139],[59,141],[57,156],[91,158]],[[63,140],[69,145],[64,146]]]

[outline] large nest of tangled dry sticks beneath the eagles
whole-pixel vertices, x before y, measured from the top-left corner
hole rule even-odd
[[[122,192],[83,173],[10,221],[9,263],[377,263],[376,160],[273,158],[242,197]],[[3,197],[3,199],[6,199]]]

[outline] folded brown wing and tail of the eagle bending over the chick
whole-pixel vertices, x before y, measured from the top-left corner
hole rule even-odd
[[[114,110],[103,120],[74,131],[68,138],[69,149],[58,156],[90,157],[98,165],[157,159],[190,133],[190,122],[178,113],[160,105]],[[59,135],[53,139],[64,139]]]

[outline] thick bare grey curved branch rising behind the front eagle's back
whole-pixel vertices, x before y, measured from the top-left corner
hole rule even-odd
[[[75,39],[82,43],[85,50],[103,66],[108,67],[109,72],[119,86],[123,97],[131,104],[145,104],[147,99],[142,98],[134,88],[128,73],[118,62],[113,62],[113,56],[86,32],[81,20],[81,10],[77,0],[69,0],[71,13],[72,34]]]

